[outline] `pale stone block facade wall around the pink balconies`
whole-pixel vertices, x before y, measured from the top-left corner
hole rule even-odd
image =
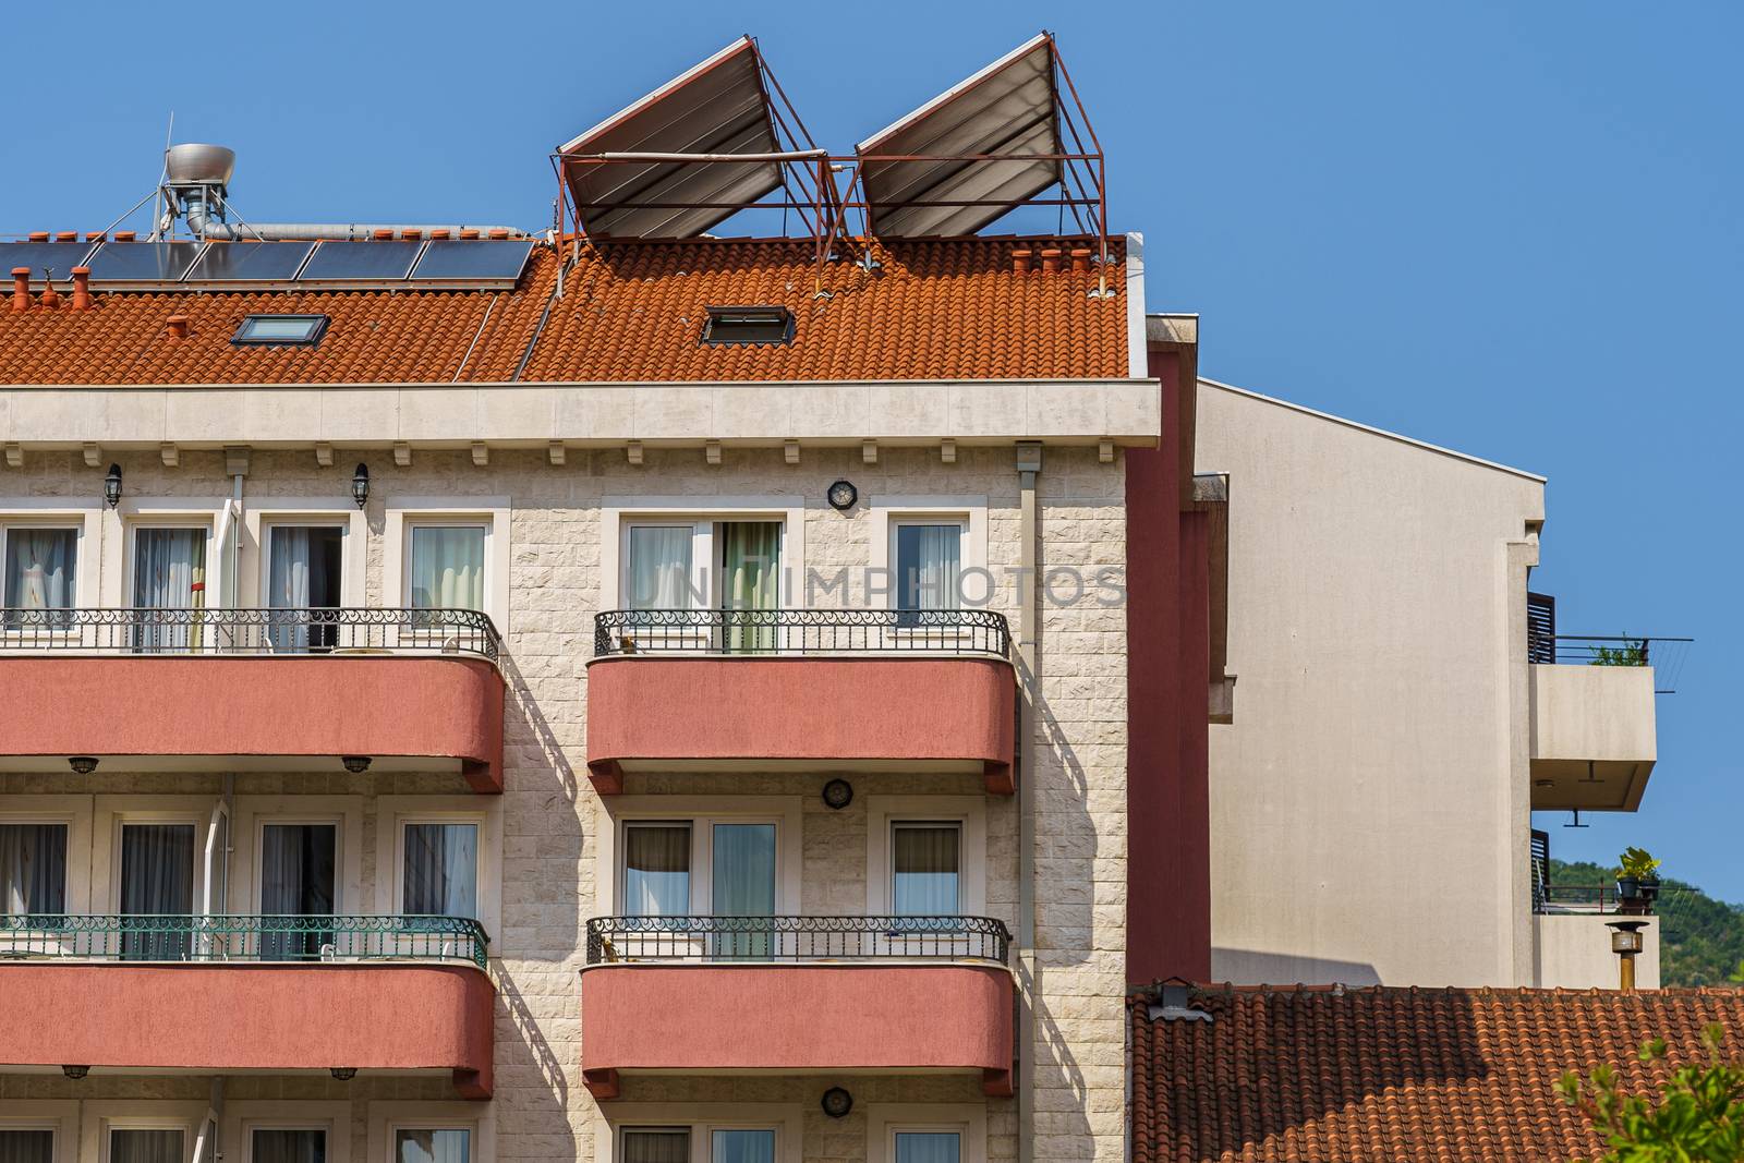
[[[616,530],[602,527],[614,497],[785,497],[804,511],[806,567],[820,575],[858,574],[872,556],[869,506],[881,497],[985,499],[985,565],[998,579],[991,607],[1017,629],[1018,479],[1012,448],[961,448],[954,464],[938,450],[882,448],[867,464],[860,448],[806,448],[799,464],[781,450],[726,450],[710,466],[698,448],[649,450],[642,466],[621,450],[570,450],[563,466],[544,452],[492,450],[488,466],[466,452],[417,450],[398,467],[385,450],[358,453],[370,464],[364,603],[384,603],[389,513],[405,497],[508,497],[508,626],[502,671],[509,685],[501,795],[501,919],[492,933],[497,985],[495,1093],[488,1102],[495,1160],[593,1160],[612,1104],[582,1088],[579,971],[584,926],[602,910],[598,837],[612,826],[610,806],[586,779],[586,675],[593,654],[593,614],[602,603],[602,553]],[[230,493],[220,453],[183,452],[180,467],[155,455],[119,455],[127,499],[218,499]],[[263,499],[344,499],[349,466],[321,469],[310,452],[251,457],[244,507]],[[830,481],[851,479],[860,504],[837,513],[825,504]],[[1041,568],[1046,595],[1039,635],[1039,689],[1034,722],[1020,736],[1020,778],[1036,795],[1038,978],[1036,1135],[1038,1160],[1118,1160],[1125,1149],[1123,950],[1127,891],[1125,832],[1125,621],[1114,586],[1125,561],[1125,478],[1121,460],[1102,464],[1095,448],[1048,448],[1038,478]],[[0,473],[0,499],[77,497],[101,490],[101,471],[78,453],[31,453],[23,469]],[[3,506],[3,500],[0,500]],[[464,504],[460,504],[464,507]],[[103,514],[105,570],[120,568],[117,518]],[[244,553],[256,547],[244,546]],[[87,568],[94,563],[87,551]],[[1102,570],[1104,586],[1080,588],[1076,574]],[[490,584],[502,584],[492,581]],[[811,605],[867,605],[863,582],[825,591]],[[239,605],[253,605],[241,598]],[[870,603],[881,603],[874,598]],[[799,605],[799,602],[787,602]],[[417,713],[406,708],[406,713]],[[855,802],[832,813],[820,800],[827,771],[804,774],[659,774],[626,778],[633,797],[671,797],[682,811],[691,795],[794,797],[802,807],[802,889],[806,914],[855,914],[867,905],[867,799],[874,795],[982,797],[985,802],[985,912],[1017,926],[1017,802],[985,797],[978,776],[853,776]],[[174,793],[213,797],[220,774],[99,772],[78,785],[96,793]],[[68,790],[65,771],[0,774],[5,799]],[[375,900],[377,797],[466,795],[459,776],[377,772],[364,776],[244,772],[239,797],[358,797],[364,910]],[[487,799],[487,797],[478,797]],[[99,840],[101,842],[101,840]],[[221,1004],[221,999],[215,999]],[[851,1086],[855,1112],[830,1119],[818,1098],[830,1085]],[[368,1078],[338,1083],[317,1076],[244,1076],[225,1083],[227,1100],[349,1102],[352,1160],[368,1149],[370,1107],[389,1100],[452,1100],[446,1079]],[[204,1102],[208,1079],[188,1076],[92,1074],[73,1083],[47,1074],[0,1074],[0,1119],[24,1100],[190,1100]],[[879,1104],[985,1105],[989,1160],[1017,1156],[1012,1098],[982,1098],[978,1079],[957,1076],[626,1076],[621,1102],[776,1102],[804,1112],[806,1160],[867,1156],[869,1109]],[[485,1104],[481,1104],[485,1105]],[[241,1154],[232,1154],[241,1163]],[[966,1156],[968,1158],[968,1156]],[[480,1160],[480,1163],[495,1163]],[[94,1163],[94,1160],[87,1161]],[[370,1160],[370,1163],[382,1163]]]

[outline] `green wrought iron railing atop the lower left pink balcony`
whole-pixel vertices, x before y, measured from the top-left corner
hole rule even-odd
[[[471,917],[7,914],[0,961],[471,961],[490,943]]]

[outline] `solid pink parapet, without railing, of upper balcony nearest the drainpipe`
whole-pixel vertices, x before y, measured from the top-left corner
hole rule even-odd
[[[588,769],[982,772],[1012,792],[1017,687],[985,657],[607,657],[588,668]]]

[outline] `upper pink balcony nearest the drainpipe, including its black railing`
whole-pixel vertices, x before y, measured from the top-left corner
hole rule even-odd
[[[609,610],[588,771],[978,772],[1010,795],[1012,635],[991,610]]]

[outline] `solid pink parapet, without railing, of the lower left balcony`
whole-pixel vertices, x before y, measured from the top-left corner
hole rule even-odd
[[[488,1098],[494,994],[452,964],[0,962],[0,1065],[450,1072]]]

